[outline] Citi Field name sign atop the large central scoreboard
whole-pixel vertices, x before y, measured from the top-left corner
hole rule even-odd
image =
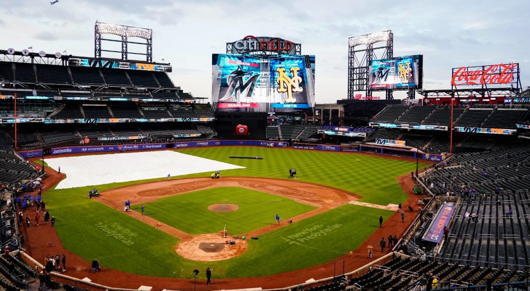
[[[231,44],[233,53],[269,51],[276,53],[295,54],[295,46],[298,43],[293,43],[280,38],[254,37],[253,35],[247,35],[243,39],[234,41]]]

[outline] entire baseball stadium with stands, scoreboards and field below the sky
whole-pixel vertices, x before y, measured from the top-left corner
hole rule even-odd
[[[278,37],[212,52],[210,98],[153,61],[151,29],[96,22],[90,57],[1,48],[0,286],[527,290],[519,64],[427,90],[430,60],[393,41],[348,39],[334,104]]]

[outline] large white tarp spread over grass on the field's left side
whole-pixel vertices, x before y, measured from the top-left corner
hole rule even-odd
[[[213,172],[244,167],[199,158],[175,151],[147,151],[98,154],[46,159],[48,166],[66,174],[57,189],[102,185]],[[209,175],[208,175],[209,176]]]

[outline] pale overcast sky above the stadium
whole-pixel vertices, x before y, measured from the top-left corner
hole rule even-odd
[[[211,54],[255,35],[300,42],[303,54],[316,55],[317,103],[347,98],[348,38],[388,29],[394,56],[423,54],[426,89],[450,88],[453,67],[500,62],[519,62],[530,85],[528,1],[0,0],[0,7],[1,49],[93,57],[96,20],[151,28],[153,60],[171,62],[175,85],[196,97],[211,95]]]

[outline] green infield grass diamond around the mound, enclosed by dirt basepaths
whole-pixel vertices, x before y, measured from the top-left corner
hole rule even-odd
[[[211,204],[235,204],[238,210],[213,212]],[[217,187],[157,199],[144,204],[146,215],[190,234],[217,233],[227,225],[229,233],[242,234],[302,214],[316,207],[293,199],[241,187]],[[140,211],[140,204],[132,206]],[[190,223],[190,222],[199,223]]]

